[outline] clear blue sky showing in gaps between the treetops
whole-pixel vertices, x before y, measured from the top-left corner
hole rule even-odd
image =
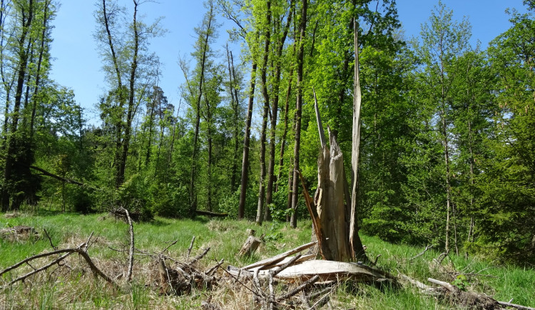
[[[420,25],[429,19],[437,1],[397,0],[399,20],[407,39],[419,35]],[[131,8],[131,0],[119,2]],[[453,9],[454,19],[469,18],[472,24],[471,44],[474,46],[479,40],[483,49],[489,41],[509,29],[509,16],[504,13],[506,8],[525,11],[522,0],[443,0],[443,3]],[[101,59],[93,39],[95,9],[96,1],[63,0],[54,20],[54,42],[51,46],[51,54],[55,58],[51,78],[74,90],[76,101],[86,109],[86,117],[91,124],[98,124],[94,106],[106,89]],[[205,13],[203,1],[158,0],[158,3],[143,4],[139,11],[146,22],[165,16],[161,26],[168,29],[168,33],[152,41],[151,51],[155,51],[163,62],[160,86],[170,103],[178,106],[178,86],[184,81],[177,64],[178,56],[190,56],[195,41],[193,28],[198,26]],[[223,26],[215,48],[223,50],[228,36],[225,26],[230,24],[221,16],[218,21]],[[233,49],[234,54],[239,53],[239,46],[233,46]]]

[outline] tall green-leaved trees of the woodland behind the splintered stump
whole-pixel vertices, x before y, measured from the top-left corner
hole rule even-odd
[[[356,18],[362,231],[535,262],[535,1],[483,50],[441,2],[408,39],[394,0],[208,0],[176,68],[178,106],[150,49],[165,29],[140,17],[156,4],[96,2],[108,91],[93,125],[49,78],[58,1],[1,0],[1,211],[202,210],[295,226],[308,216],[296,171],[317,184],[312,88],[349,162]],[[239,53],[215,46],[227,19]]]

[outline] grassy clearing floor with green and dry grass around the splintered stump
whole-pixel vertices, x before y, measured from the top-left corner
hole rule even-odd
[[[59,249],[73,248],[87,241],[93,233],[93,243],[88,254],[96,266],[110,276],[121,274],[127,268],[129,234],[128,224],[117,221],[108,214],[60,214],[40,211],[38,214],[0,214],[0,229],[13,226],[34,227],[39,236],[29,239],[0,238],[0,270],[16,264],[29,256]],[[195,243],[191,256],[210,247],[200,264],[214,266],[225,259],[228,264],[245,266],[254,261],[282,253],[310,241],[310,221],[300,221],[297,229],[285,224],[266,223],[256,226],[250,221],[210,220],[199,217],[189,219],[163,219],[157,217],[150,223],[134,224],[135,246],[146,252],[160,253],[173,241],[167,255],[178,261],[186,259],[191,239]],[[44,229],[50,240],[45,237]],[[235,256],[248,237],[247,229],[255,229],[257,236],[265,234],[265,242],[252,257]],[[474,257],[465,258],[449,254],[442,264],[434,259],[440,251],[424,251],[424,246],[389,244],[372,236],[361,236],[367,246],[368,256],[374,260],[379,254],[377,268],[394,276],[406,274],[412,279],[427,283],[431,277],[453,283],[468,291],[477,291],[499,301],[535,307],[535,269],[498,265]],[[139,253],[141,254],[141,253]],[[136,255],[133,280],[118,279],[119,287],[96,279],[84,264],[81,256],[71,255],[65,264],[46,269],[25,281],[6,286],[17,276],[39,268],[52,261],[42,259],[21,266],[0,277],[0,309],[199,309],[203,301],[220,309],[258,309],[252,294],[240,288],[220,283],[212,289],[193,289],[188,294],[160,294],[155,286],[156,261],[151,256]],[[225,273],[218,270],[216,276]],[[429,283],[427,283],[430,285]],[[285,290],[285,286],[277,289]],[[297,299],[298,301],[298,299]],[[298,305],[298,303],[295,303]],[[444,299],[426,296],[409,284],[402,288],[376,288],[367,284],[340,281],[330,295],[324,309],[462,309]],[[208,309],[208,308],[207,308]],[[217,308],[213,308],[217,309]],[[297,306],[297,309],[301,309]]]

